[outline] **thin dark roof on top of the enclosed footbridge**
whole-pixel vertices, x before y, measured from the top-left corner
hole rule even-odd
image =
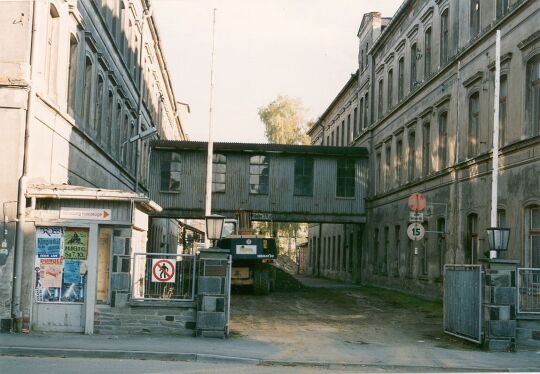
[[[157,150],[204,151],[208,149],[207,142],[155,140],[150,143]],[[368,151],[363,147],[332,147],[318,145],[289,145],[269,143],[214,143],[214,152],[224,153],[287,153],[305,156],[351,156],[368,157]]]

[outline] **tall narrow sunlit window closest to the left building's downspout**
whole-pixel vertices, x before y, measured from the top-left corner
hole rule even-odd
[[[58,29],[60,16],[54,5],[50,5],[47,19],[47,47],[45,51],[45,83],[49,97],[56,100],[58,69]]]

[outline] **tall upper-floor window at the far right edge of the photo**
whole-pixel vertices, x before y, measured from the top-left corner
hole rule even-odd
[[[527,63],[525,125],[528,136],[540,134],[540,55]]]

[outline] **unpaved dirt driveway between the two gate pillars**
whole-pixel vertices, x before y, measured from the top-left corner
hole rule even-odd
[[[339,357],[359,346],[478,349],[443,333],[440,304],[373,288],[308,288],[268,296],[240,291],[231,307],[233,336],[287,344],[314,358],[321,350],[335,350],[331,353]]]

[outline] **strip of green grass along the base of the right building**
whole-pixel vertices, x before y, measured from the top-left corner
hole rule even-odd
[[[396,307],[426,313],[431,318],[443,317],[443,305],[440,302],[429,301],[403,292],[373,286],[362,287],[361,291],[366,295],[378,297]]]

